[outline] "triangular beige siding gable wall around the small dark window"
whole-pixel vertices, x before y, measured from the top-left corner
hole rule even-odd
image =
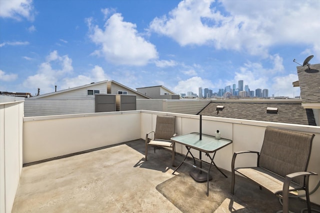
[[[50,95],[50,96],[45,96],[42,99],[44,99],[44,98],[50,98],[50,99],[53,99],[53,98],[57,98],[57,99],[60,99],[60,98],[79,99],[79,98],[91,98],[91,97],[94,98],[94,95],[87,95],[87,90],[88,89],[99,90],[100,94],[106,94],[106,83],[93,85],[93,86],[88,86],[88,87],[85,87],[85,88],[79,88],[79,89],[70,90],[70,91],[65,90],[65,92],[61,92],[61,93],[58,93],[58,94],[53,94],[53,95]],[[41,97],[39,97],[39,98],[41,98]]]

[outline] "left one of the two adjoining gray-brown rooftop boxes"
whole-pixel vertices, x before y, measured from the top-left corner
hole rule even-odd
[[[95,112],[114,112],[115,95],[114,94],[95,94]]]

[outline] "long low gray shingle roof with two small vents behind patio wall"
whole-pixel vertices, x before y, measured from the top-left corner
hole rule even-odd
[[[217,106],[224,108],[217,111]],[[267,113],[267,107],[277,108],[278,112]],[[217,100],[211,101],[198,115],[316,126],[312,109],[304,109],[300,99]]]

